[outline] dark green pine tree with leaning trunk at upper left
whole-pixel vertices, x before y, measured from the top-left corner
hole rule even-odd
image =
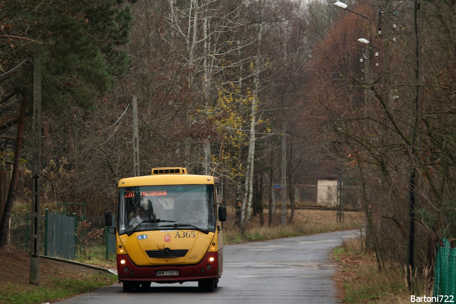
[[[0,78],[0,133],[19,121],[16,103],[32,100],[35,44],[43,50],[44,111],[94,108],[129,66],[123,46],[132,16],[122,0],[6,0],[0,4],[0,20],[0,74],[4,74]],[[5,73],[27,58],[19,68]],[[15,162],[13,176],[18,169]],[[14,189],[0,223],[0,246],[5,246],[13,197]]]

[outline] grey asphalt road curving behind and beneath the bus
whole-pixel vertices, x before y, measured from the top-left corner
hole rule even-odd
[[[59,304],[150,303],[340,303],[331,277],[332,248],[357,231],[332,232],[266,242],[224,246],[224,269],[214,292],[198,284],[155,284],[144,292],[124,293],[113,284],[58,301]]]

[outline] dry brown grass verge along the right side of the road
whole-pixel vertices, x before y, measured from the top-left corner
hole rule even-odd
[[[360,238],[345,240],[333,253],[339,264],[335,280],[344,303],[410,303],[404,269],[387,262],[386,269],[379,272],[374,253],[365,250]],[[417,278],[416,286],[414,295],[432,295],[423,280]]]

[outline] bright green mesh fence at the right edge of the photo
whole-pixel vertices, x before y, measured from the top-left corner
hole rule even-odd
[[[437,246],[433,296],[456,296],[456,248],[452,248],[447,239]]]

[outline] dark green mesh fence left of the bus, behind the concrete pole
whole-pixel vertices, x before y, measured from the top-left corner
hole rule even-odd
[[[115,218],[115,217],[114,217]],[[31,216],[11,216],[8,245],[29,250]],[[115,223],[111,226],[115,227]],[[46,210],[40,216],[41,255],[70,260],[108,259],[116,253],[116,236],[104,217],[76,216]]]

